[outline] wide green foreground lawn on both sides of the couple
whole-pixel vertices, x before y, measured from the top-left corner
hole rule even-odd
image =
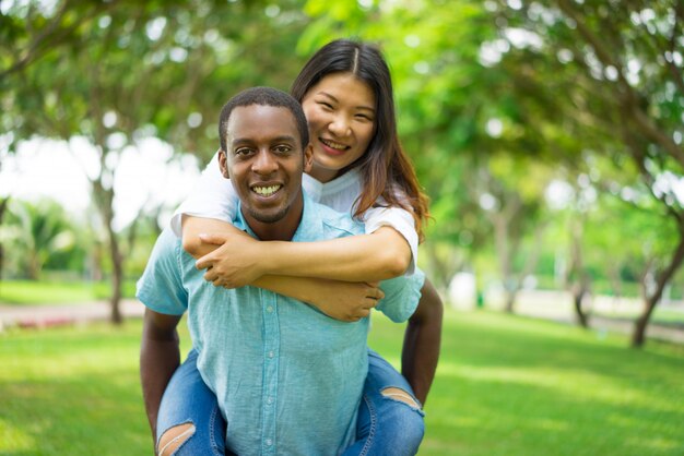
[[[0,455],[149,455],[140,321],[0,334]],[[401,327],[370,345],[397,363]],[[181,334],[184,349],[189,346]],[[684,347],[447,312],[421,455],[682,455]]]

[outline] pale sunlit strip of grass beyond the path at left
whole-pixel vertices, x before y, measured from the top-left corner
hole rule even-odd
[[[75,304],[105,300],[110,296],[108,281],[36,281],[1,280],[0,303],[8,304]],[[126,280],[123,297],[135,296],[135,281]]]

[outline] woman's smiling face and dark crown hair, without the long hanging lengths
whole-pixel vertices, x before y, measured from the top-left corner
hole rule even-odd
[[[363,165],[370,156],[381,158],[385,145],[396,135],[389,68],[379,50],[368,44],[338,39],[323,46],[302,69],[291,93],[305,108],[315,160],[321,166],[339,166],[337,175]],[[329,108],[323,105],[328,101]],[[349,151],[340,151],[343,154],[333,159],[334,151],[325,147],[326,140],[337,139],[338,145],[345,145],[340,141],[343,136],[349,136]],[[358,151],[362,145],[365,148]]]

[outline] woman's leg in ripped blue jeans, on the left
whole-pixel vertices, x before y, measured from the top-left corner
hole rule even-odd
[[[216,396],[197,370],[194,350],[164,391],[156,429],[160,456],[223,456],[225,453],[226,424]]]

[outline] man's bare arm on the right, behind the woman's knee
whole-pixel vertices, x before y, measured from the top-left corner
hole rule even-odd
[[[401,373],[415,397],[425,404],[435,377],[441,340],[441,299],[433,284],[425,279],[418,305],[409,319],[401,352]]]

